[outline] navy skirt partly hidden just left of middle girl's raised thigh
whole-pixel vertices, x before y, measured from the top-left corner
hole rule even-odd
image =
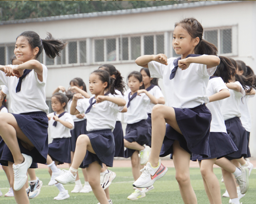
[[[71,151],[75,151],[76,149],[76,140],[79,135],[87,135],[88,132],[86,130],[87,120],[81,120],[74,122],[74,129],[70,131],[71,133]]]

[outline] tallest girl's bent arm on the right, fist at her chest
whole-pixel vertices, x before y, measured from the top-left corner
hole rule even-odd
[[[179,60],[178,64],[181,69],[186,69],[191,63],[205,64],[207,69],[211,67],[216,67],[220,64],[220,58],[215,55],[202,55],[199,57],[188,57]]]

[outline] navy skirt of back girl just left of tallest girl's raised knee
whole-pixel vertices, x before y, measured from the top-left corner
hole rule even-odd
[[[128,142],[137,142],[140,145],[146,144],[151,139],[151,127],[146,120],[141,120],[133,124],[127,124],[124,139]],[[126,148],[124,157],[129,158],[135,149]]]

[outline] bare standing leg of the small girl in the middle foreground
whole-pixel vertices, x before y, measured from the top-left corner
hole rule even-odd
[[[86,170],[87,170],[90,186],[92,187],[93,193],[94,193],[95,197],[97,198],[97,200],[101,204],[109,204],[109,201],[106,198],[106,194],[104,193],[103,188],[100,186],[101,166],[99,165],[99,163],[97,161],[93,162],[92,164],[89,165],[88,168],[86,168]]]

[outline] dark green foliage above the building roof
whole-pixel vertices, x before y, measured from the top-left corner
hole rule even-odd
[[[180,3],[187,3],[187,1],[0,1],[0,21]]]

